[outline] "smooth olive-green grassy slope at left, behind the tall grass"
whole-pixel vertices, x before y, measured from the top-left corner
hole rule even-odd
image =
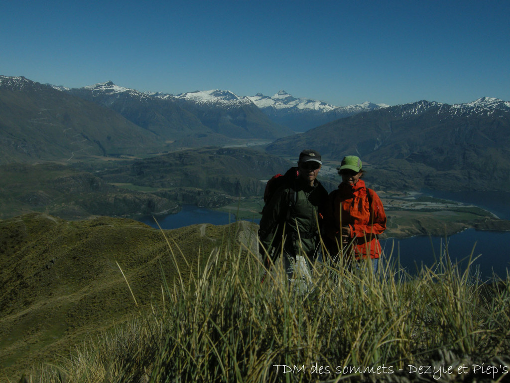
[[[165,233],[193,267],[199,254],[222,244],[226,228]],[[19,378],[23,366],[68,355],[137,312],[116,262],[145,308],[161,295],[160,264],[169,281],[176,272],[162,233],[136,221],[69,222],[45,214],[0,221],[0,370]],[[182,258],[178,264],[189,274]]]

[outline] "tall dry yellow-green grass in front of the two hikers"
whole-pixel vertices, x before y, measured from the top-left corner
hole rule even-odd
[[[435,268],[423,267],[414,276],[400,270],[391,254],[377,273],[370,262],[352,271],[326,262],[303,291],[289,284],[279,262],[261,283],[265,270],[258,254],[231,245],[201,259],[191,275],[179,273],[174,280],[162,275],[161,296],[149,314],[81,345],[75,356],[29,380],[502,381],[510,376],[508,275],[483,284],[470,268],[452,264],[445,249]],[[184,254],[169,246],[177,266]]]

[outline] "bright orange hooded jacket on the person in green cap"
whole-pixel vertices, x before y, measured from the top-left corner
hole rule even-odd
[[[328,226],[326,235],[336,245],[341,227],[349,225],[351,239],[355,238],[350,251],[356,259],[379,258],[382,253],[376,234],[386,230],[386,214],[382,202],[377,194],[365,186],[365,181],[359,180],[351,186],[346,183],[338,185],[328,197]]]

